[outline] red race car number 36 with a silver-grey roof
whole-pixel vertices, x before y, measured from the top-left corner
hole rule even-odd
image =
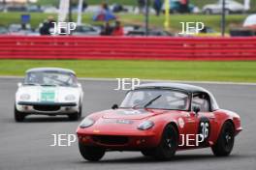
[[[108,151],[168,159],[178,150],[206,147],[215,156],[229,156],[241,129],[240,116],[220,109],[206,89],[150,83],[129,91],[120,107],[84,118],[77,134],[87,160],[97,161]]]

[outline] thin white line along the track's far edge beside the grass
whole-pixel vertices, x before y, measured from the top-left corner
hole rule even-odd
[[[0,79],[19,79],[21,76],[0,76]],[[81,77],[80,80],[86,81],[116,81],[115,78],[87,78]],[[256,83],[242,83],[242,82],[221,82],[221,81],[185,81],[185,80],[157,80],[157,79],[141,79],[142,82],[178,82],[191,84],[216,84],[216,85],[245,85],[256,86]]]

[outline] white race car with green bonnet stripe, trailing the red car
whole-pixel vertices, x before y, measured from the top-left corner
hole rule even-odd
[[[26,71],[16,91],[15,120],[27,115],[68,115],[76,121],[81,116],[83,92],[76,73],[58,68]]]

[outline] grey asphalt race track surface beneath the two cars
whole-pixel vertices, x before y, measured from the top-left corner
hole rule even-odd
[[[241,116],[243,131],[236,138],[229,157],[212,156],[210,149],[183,151],[170,161],[155,161],[141,153],[112,152],[100,162],[87,162],[78,144],[49,147],[52,133],[75,133],[79,122],[65,117],[30,116],[24,123],[14,121],[16,83],[20,79],[0,79],[0,170],[255,170],[256,169],[256,86],[197,84],[211,91],[221,108]],[[113,91],[113,81],[81,81],[84,90],[83,116],[109,109],[125,92]]]

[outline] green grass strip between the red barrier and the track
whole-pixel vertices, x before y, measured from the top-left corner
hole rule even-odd
[[[80,77],[256,82],[256,62],[0,60],[0,75],[24,75],[35,67],[72,69]]]

